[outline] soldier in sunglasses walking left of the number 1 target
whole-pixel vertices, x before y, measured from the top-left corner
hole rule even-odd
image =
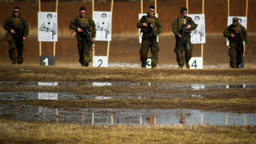
[[[9,43],[9,57],[12,64],[22,64],[24,43],[28,36],[28,23],[20,16],[20,8],[14,7],[12,16],[8,17],[4,22],[4,29],[8,32],[5,34],[6,40]],[[17,49],[17,58],[16,52]]]

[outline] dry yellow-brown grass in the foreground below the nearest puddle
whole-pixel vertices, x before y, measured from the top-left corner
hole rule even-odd
[[[256,126],[81,125],[0,118],[1,143],[255,143]]]

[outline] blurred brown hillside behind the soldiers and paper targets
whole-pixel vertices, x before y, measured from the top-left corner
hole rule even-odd
[[[148,11],[149,5],[154,2],[144,2],[143,12]],[[3,24],[12,14],[14,6],[19,6],[21,16],[29,24],[30,34],[25,41],[24,64],[39,64],[39,50],[37,41],[37,12],[38,3],[0,4],[2,10],[0,17],[0,63],[11,63],[8,56],[8,43],[5,41]],[[55,11],[55,3],[42,2],[41,11]],[[79,8],[85,6],[87,14],[92,17],[92,3],[59,2],[58,6],[58,42],[56,43],[56,65],[76,64],[78,52],[74,34],[71,36],[69,22],[79,15]],[[171,0],[157,2],[157,13],[163,32],[159,36],[160,52],[159,65],[176,64],[176,55],[173,52],[175,45],[172,34],[172,21],[180,14],[180,8],[186,6],[185,0]],[[206,44],[204,44],[204,64],[228,66],[228,47],[222,32],[227,27],[228,17],[227,0],[205,0],[205,28]],[[246,0],[230,0],[230,15],[245,16]],[[246,50],[246,66],[255,68],[255,41],[256,41],[256,0],[249,0],[247,31],[249,44]],[[111,3],[95,3],[95,11],[110,11]],[[202,13],[202,0],[189,0],[189,14]],[[110,42],[109,62],[140,63],[138,42],[138,13],[140,2],[114,2],[112,16],[112,41]],[[52,55],[52,42],[42,42],[42,54]],[[106,55],[107,42],[96,41],[95,55]],[[148,56],[151,56],[150,52]],[[201,44],[194,44],[193,57],[201,56]]]

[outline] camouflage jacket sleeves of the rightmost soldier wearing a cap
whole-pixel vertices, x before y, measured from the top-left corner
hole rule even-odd
[[[227,28],[225,28],[223,35],[224,35],[224,37],[228,38],[229,42],[235,43],[235,41],[231,37],[231,34],[234,34],[232,27],[233,27],[233,24],[231,24]],[[237,25],[237,27],[241,29],[241,32],[238,32],[238,33],[242,34],[242,41],[244,41],[244,44],[248,44],[248,35],[247,35],[246,29],[240,23]]]

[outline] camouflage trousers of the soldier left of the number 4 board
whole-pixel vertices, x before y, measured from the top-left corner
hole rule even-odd
[[[176,45],[174,48],[174,52],[177,56],[177,63],[179,66],[184,65],[184,57],[183,57],[183,51],[185,51],[185,61],[188,62],[192,57],[192,49],[193,45],[190,42],[190,39],[183,40],[179,47],[179,39],[176,39]]]

